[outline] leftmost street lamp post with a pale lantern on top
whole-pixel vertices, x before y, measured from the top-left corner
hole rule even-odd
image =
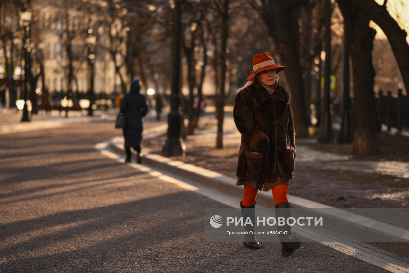
[[[23,51],[24,51],[24,107],[23,107],[23,116],[21,118],[22,122],[30,121],[28,115],[28,105],[27,105],[27,76],[29,74],[29,52],[27,47],[30,45],[30,21],[31,21],[31,10],[27,5],[22,9],[21,16],[22,25],[24,27],[24,40],[23,40]]]

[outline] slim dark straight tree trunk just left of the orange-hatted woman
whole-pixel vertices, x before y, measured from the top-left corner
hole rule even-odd
[[[217,139],[216,149],[223,148],[223,118],[224,118],[224,106],[225,106],[225,82],[226,82],[226,46],[227,36],[229,31],[229,0],[225,0],[223,3],[222,14],[222,39],[220,43],[220,87],[219,87],[219,101],[216,111],[218,112],[217,121]]]

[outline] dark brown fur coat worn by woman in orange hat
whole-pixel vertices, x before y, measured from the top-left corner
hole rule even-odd
[[[233,117],[241,133],[237,177],[273,182],[278,166],[283,180],[292,179],[296,152],[288,91],[278,83],[271,95],[258,81],[254,81],[237,93]],[[257,143],[261,139],[267,139],[271,152],[258,151]]]

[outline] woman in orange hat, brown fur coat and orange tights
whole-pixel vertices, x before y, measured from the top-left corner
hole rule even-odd
[[[258,190],[272,189],[276,217],[291,216],[287,191],[294,177],[295,134],[290,94],[279,83],[278,73],[285,69],[276,65],[267,52],[253,58],[253,71],[247,83],[238,89],[234,101],[234,123],[241,134],[236,175],[237,186],[244,185],[240,202],[242,216],[255,223]],[[300,247],[298,236],[291,236],[291,226],[277,226],[283,256],[292,255]],[[254,231],[254,226],[245,226]],[[245,235],[244,245],[260,248],[255,235]]]

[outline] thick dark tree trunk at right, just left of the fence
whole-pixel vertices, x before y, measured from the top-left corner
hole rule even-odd
[[[376,31],[369,27],[369,18],[354,8],[353,0],[338,0],[338,5],[344,18],[348,17],[346,27],[351,35],[350,54],[354,83],[353,153],[378,154],[380,147],[373,93],[375,70],[372,65],[373,38]]]

